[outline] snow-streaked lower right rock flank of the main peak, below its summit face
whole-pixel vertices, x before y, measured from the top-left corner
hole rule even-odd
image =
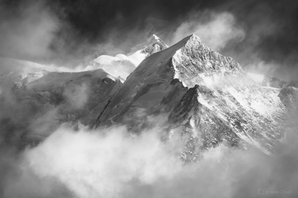
[[[171,127],[184,125],[184,131],[195,136],[201,148],[224,141],[229,146],[247,147],[248,143],[267,152],[282,137],[285,110],[277,98],[278,89],[227,82],[224,86],[195,88],[195,101],[189,100],[187,93],[170,114],[169,122]]]

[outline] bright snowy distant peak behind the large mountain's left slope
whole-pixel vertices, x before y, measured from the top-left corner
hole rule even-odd
[[[102,68],[113,76],[123,81],[135,70],[135,68],[148,56],[168,48],[168,46],[157,36],[153,35],[149,44],[131,55],[117,54],[116,56],[100,55],[92,60],[86,70]]]

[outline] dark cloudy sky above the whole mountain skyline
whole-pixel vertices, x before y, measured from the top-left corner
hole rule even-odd
[[[71,66],[103,53],[128,53],[153,33],[172,45],[198,30],[211,47],[223,37],[217,50],[244,67],[298,76],[297,0],[0,2],[0,56]]]

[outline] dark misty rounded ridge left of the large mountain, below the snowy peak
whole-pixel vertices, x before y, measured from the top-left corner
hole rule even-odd
[[[1,122],[7,123],[3,123],[1,128],[11,132],[7,136],[9,141],[31,144],[48,136],[60,123],[91,125],[98,116],[97,112],[103,110],[121,85],[119,79],[102,69],[50,72],[30,83],[14,83],[9,92],[0,95],[0,106],[3,111],[19,111],[21,117],[0,117]],[[13,100],[11,105],[9,100]],[[13,126],[25,126],[8,130],[11,122],[15,122]]]

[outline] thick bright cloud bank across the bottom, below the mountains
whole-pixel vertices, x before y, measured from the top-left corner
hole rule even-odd
[[[9,179],[2,182],[3,195],[262,198],[259,189],[273,198],[298,195],[295,133],[271,156],[253,148],[241,150],[220,145],[202,150],[194,163],[181,160],[179,134],[162,142],[162,133],[158,127],[133,135],[124,126],[100,131],[74,131],[63,126],[39,146],[28,148],[20,158],[11,160],[14,169],[6,176]]]

